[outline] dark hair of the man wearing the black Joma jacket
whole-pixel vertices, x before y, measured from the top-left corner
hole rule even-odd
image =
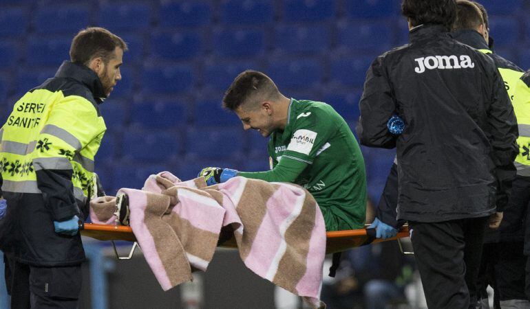
[[[401,12],[410,19],[413,27],[424,23],[444,25],[452,29],[456,18],[455,0],[403,0]]]

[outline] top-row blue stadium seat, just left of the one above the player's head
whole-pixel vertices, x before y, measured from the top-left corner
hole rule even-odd
[[[212,19],[210,1],[171,1],[160,5],[162,27],[209,25]]]

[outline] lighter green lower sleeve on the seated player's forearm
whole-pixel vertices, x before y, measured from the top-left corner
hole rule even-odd
[[[303,172],[308,163],[288,158],[282,158],[279,163],[266,172],[240,172],[237,176],[251,179],[261,179],[268,182],[294,183],[298,175]]]

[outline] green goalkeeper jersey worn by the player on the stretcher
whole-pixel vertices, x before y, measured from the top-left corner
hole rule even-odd
[[[286,127],[271,134],[268,154],[270,171],[240,176],[304,186],[317,200],[328,231],[364,226],[363,156],[348,124],[330,105],[291,99]]]

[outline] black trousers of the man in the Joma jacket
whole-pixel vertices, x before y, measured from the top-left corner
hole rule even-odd
[[[487,217],[409,221],[414,259],[430,309],[475,308]]]

